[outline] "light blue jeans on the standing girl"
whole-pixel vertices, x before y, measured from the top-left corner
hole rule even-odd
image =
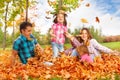
[[[57,44],[55,42],[52,42],[52,49],[53,49],[53,57],[58,57],[59,56],[59,52],[63,52],[64,51],[64,47],[63,44]]]

